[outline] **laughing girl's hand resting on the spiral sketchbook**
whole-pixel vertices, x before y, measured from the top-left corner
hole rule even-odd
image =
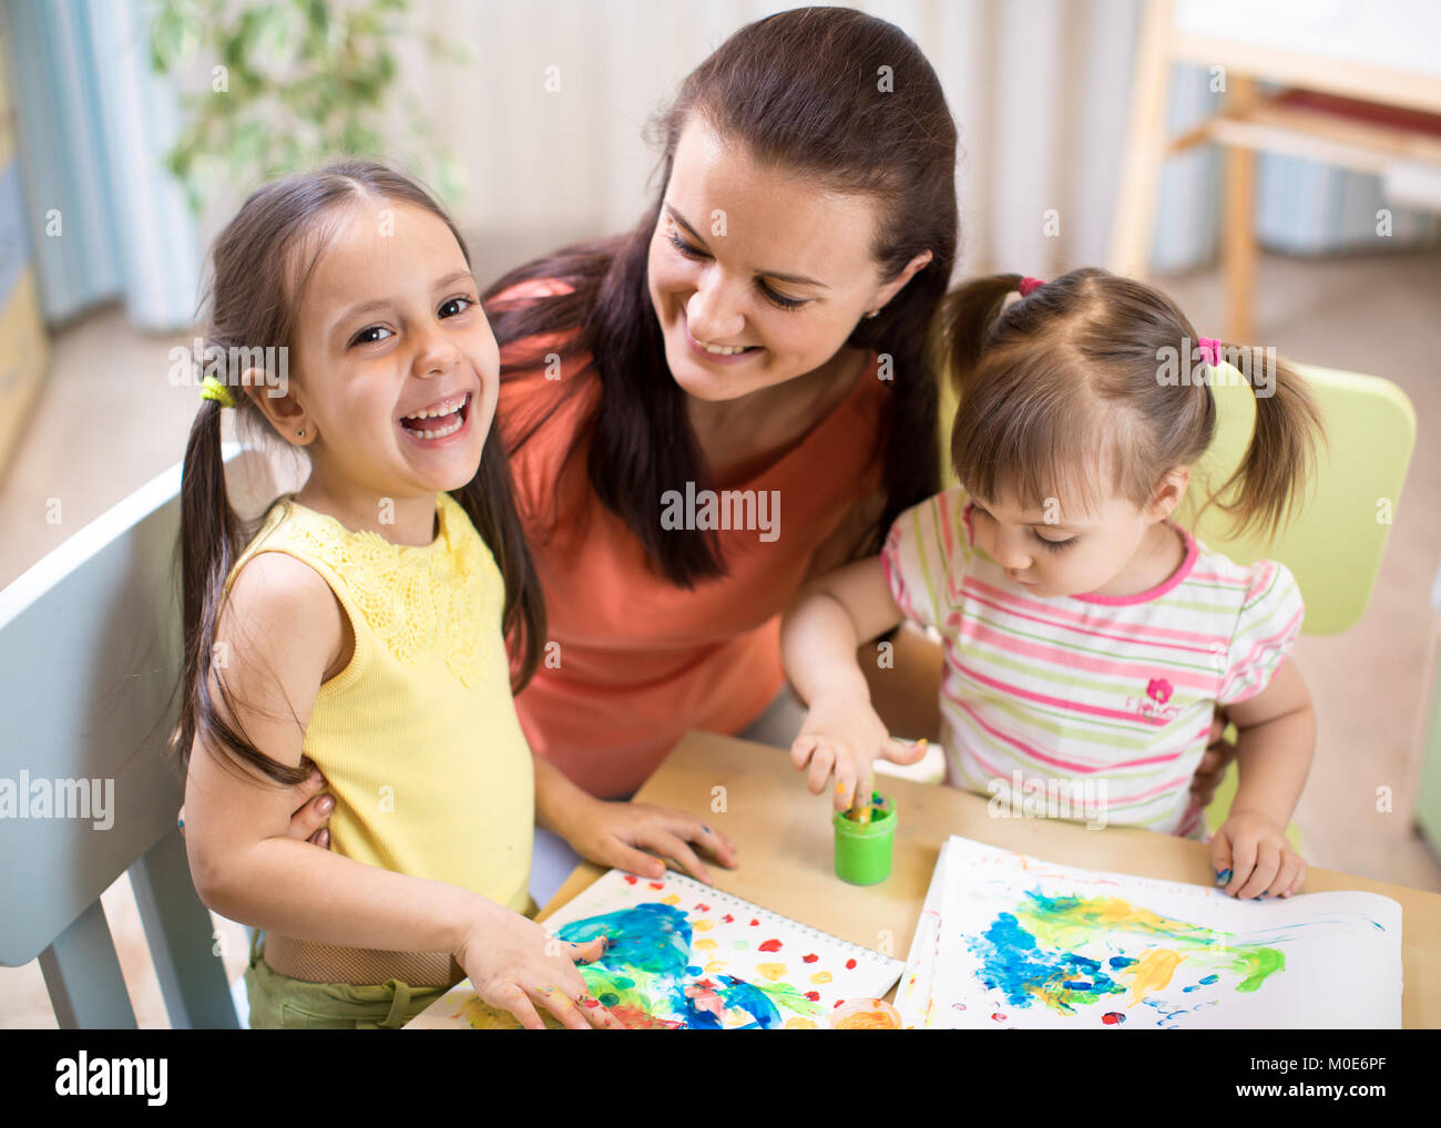
[[[548,936],[535,921],[487,902],[455,951],[455,962],[483,1003],[510,1011],[527,1030],[545,1030],[537,1006],[571,1030],[624,1030],[575,970],[576,962],[588,964],[604,951],[604,936],[566,944]]]

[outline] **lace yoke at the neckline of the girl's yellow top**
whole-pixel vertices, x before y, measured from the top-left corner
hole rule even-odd
[[[429,545],[393,545],[369,529],[346,529],[291,494],[281,501],[294,511],[285,536],[344,576],[347,594],[396,658],[412,666],[440,658],[467,689],[486,680],[491,632],[477,624],[500,618],[504,585],[450,494],[437,496],[440,534]],[[484,582],[473,582],[477,575]]]

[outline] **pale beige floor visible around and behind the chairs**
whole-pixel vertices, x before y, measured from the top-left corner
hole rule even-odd
[[[1219,326],[1213,272],[1163,285],[1196,326]],[[1297,650],[1320,722],[1297,823],[1316,866],[1441,890],[1441,861],[1414,831],[1409,810],[1441,619],[1431,605],[1441,563],[1441,445],[1428,441],[1441,432],[1441,379],[1432,367],[1441,256],[1268,256],[1258,291],[1262,343],[1303,363],[1395,380],[1415,405],[1421,435],[1365,619],[1342,635],[1306,637]],[[196,395],[171,386],[167,373],[170,347],[186,343],[140,336],[118,310],[56,337],[48,389],[0,480],[0,586],[180,460]],[[1378,801],[1380,788],[1393,795],[1389,807]],[[553,847],[537,866],[537,893],[558,886],[568,867]],[[169,1026],[128,879],[115,882],[102,905],[140,1026]],[[245,931],[216,918],[216,936],[233,982],[248,954]],[[36,962],[0,968],[0,1027],[55,1027]]]

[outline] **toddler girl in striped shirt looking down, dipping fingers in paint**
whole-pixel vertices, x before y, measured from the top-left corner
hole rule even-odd
[[[1238,532],[1282,524],[1321,435],[1304,380],[1270,352],[1197,339],[1163,294],[1099,269],[973,281],[947,298],[944,327],[961,484],[785,615],[785,668],[810,706],[795,766],[817,794],[834,775],[844,810],[857,785],[870,794],[876,758],[916,758],[870,706],[856,657],[911,619],[944,641],[947,782],[1017,810],[1019,784],[1027,811],[1099,792],[1102,823],[1205,840],[1189,785],[1222,704],[1241,776],[1212,840],[1218,885],[1300,890],[1285,827],[1316,726],[1285,658],[1301,594],[1285,565],[1232,563],[1170,516],[1215,434],[1210,385],[1239,373],[1255,432],[1210,503]]]

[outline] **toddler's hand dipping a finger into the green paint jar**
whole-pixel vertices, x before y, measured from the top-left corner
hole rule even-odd
[[[891,736],[869,702],[849,694],[823,696],[811,703],[800,736],[791,745],[791,764],[797,771],[810,765],[806,785],[813,795],[820,795],[834,775],[831,805],[844,811],[857,794],[870,795],[878,759],[915,764],[925,756],[925,743],[912,745]]]

